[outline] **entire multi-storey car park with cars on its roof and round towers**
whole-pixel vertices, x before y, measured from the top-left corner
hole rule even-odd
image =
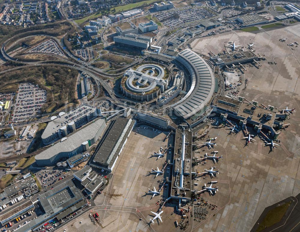
[[[58,141],[95,119],[97,115],[98,111],[96,108],[91,106],[79,106],[68,113],[60,112],[58,116],[52,116],[51,121],[41,136],[43,143],[48,145]]]

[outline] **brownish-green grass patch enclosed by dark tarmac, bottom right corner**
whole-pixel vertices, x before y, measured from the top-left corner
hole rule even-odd
[[[280,205],[274,209],[271,209],[263,221],[260,223],[259,227],[257,228],[256,232],[262,231],[265,228],[270,227],[271,225],[274,225],[277,222],[280,222],[283,215],[285,214],[286,210],[289,208],[289,205],[291,202],[287,202],[283,205]]]

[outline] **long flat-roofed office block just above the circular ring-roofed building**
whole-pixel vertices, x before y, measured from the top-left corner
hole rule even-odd
[[[144,36],[148,37],[148,36]],[[151,38],[151,37],[148,37]],[[149,40],[151,39],[143,39],[143,37],[135,34],[126,34],[125,36],[115,36],[113,40],[116,45],[135,47],[140,49],[147,49],[150,46]]]

